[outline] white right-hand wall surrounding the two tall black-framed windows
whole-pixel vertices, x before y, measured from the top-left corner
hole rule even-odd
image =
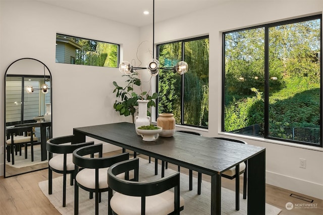
[[[221,132],[222,32],[321,14],[322,10],[323,1],[320,0],[229,1],[218,7],[155,24],[156,44],[209,35],[209,129],[199,132],[204,136],[228,135]],[[152,43],[150,32],[151,26],[143,27],[140,40],[150,39]],[[241,135],[238,137],[243,138]],[[323,199],[321,148],[299,147],[263,138],[244,137],[244,140],[266,148],[266,183]],[[299,167],[300,158],[306,159],[306,169]]]

